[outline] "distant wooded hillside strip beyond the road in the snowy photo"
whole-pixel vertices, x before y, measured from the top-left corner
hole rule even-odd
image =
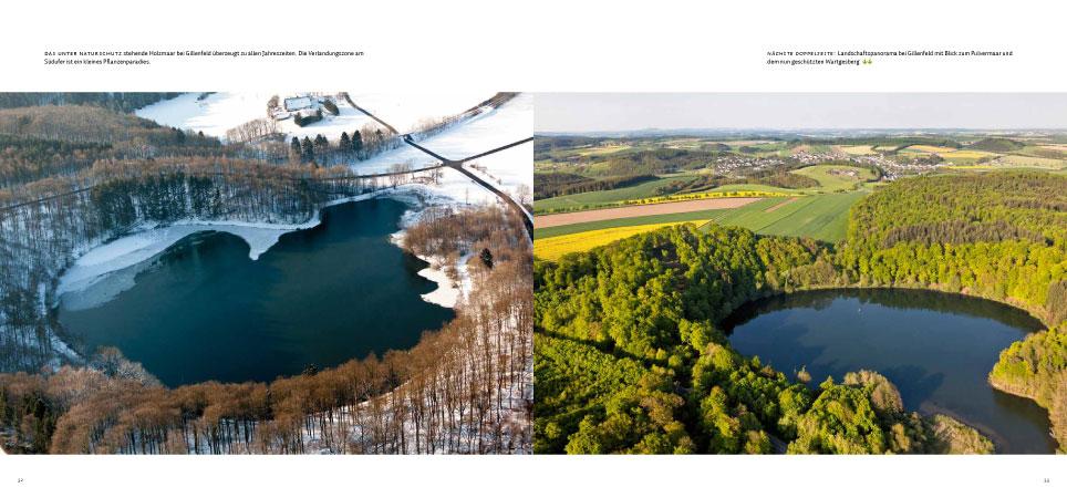
[[[2,97],[3,95],[0,95]],[[514,95],[512,95],[514,96]],[[501,94],[486,102],[507,102]],[[457,116],[425,123],[413,132],[425,138],[480,114],[478,107]],[[97,105],[42,105],[0,108],[0,188],[89,167],[95,159],[151,159],[163,157],[225,156],[256,159],[274,165],[290,163],[335,166],[372,158],[403,146],[403,139],[379,125],[364,125],[330,141],[322,134],[284,141],[280,133],[253,134],[239,138],[244,127],[277,125],[258,118],[235,129],[230,141],[205,136],[203,132],[162,126],[133,114]],[[248,132],[251,133],[251,132]]]

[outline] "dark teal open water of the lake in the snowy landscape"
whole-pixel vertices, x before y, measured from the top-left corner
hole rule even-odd
[[[239,237],[196,234],[108,277],[135,280],[110,301],[74,310],[61,298],[58,318],[79,349],[116,346],[170,386],[271,381],[410,349],[454,313],[422,299],[436,289],[416,274],[426,263],[389,240],[405,209],[327,208],[256,261]]]

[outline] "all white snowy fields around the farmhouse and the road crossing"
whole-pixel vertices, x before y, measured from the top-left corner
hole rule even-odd
[[[291,95],[296,93],[278,93]],[[198,101],[199,93],[187,93],[176,98],[159,102],[136,112],[141,117],[153,120],[168,126],[204,132],[206,135],[225,137],[226,131],[248,121],[267,115],[267,101],[270,94],[256,93],[215,93]],[[419,94],[383,95],[350,94],[356,105],[374,113],[397,129],[405,132],[424,120],[439,118],[462,113],[491,95],[484,94]],[[297,136],[322,134],[331,141],[341,132],[359,129],[371,118],[352,108],[348,103],[338,102],[339,116],[327,116],[323,121],[298,127],[292,120],[279,122],[281,131]],[[469,157],[501,145],[509,144],[534,134],[534,96],[520,94],[499,108],[475,116],[444,133],[435,135],[421,144],[450,159]],[[386,152],[370,160],[355,163],[352,169],[358,173],[384,173],[394,164],[411,164],[414,167],[429,166],[435,159],[412,147]],[[474,164],[485,167],[479,173],[484,179],[503,190],[515,194],[520,185],[534,191],[534,144],[518,147],[477,159]],[[469,164],[468,164],[469,166]],[[458,172],[444,170],[439,191],[458,203],[480,204],[491,201],[494,195],[477,186]]]

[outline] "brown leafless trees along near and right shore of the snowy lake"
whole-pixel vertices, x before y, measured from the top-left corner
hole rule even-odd
[[[85,366],[0,374],[9,453],[529,453],[530,250],[495,207],[426,217],[421,249],[493,255],[457,318],[410,351],[271,383],[166,388],[116,350]],[[446,242],[447,243],[444,243]],[[437,248],[437,249],[434,249]]]

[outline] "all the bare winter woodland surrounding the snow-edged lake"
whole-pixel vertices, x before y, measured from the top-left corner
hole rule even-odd
[[[532,256],[514,215],[432,207],[410,228],[405,248],[421,256],[489,255],[469,260],[473,291],[457,318],[414,349],[271,383],[168,388],[117,350],[73,351],[60,339],[50,307],[79,255],[146,222],[301,224],[330,201],[433,184],[439,172],[354,176],[319,160],[346,154],[340,144],[308,160],[302,147],[272,143],[284,147],[278,159],[263,144],[222,145],[94,106],[2,110],[0,141],[7,452],[530,452]]]

